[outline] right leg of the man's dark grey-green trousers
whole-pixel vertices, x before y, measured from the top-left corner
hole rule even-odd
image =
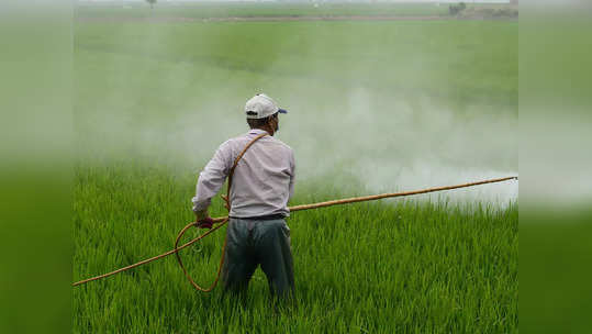
[[[275,297],[289,297],[294,289],[290,229],[283,220],[261,221],[257,227],[257,258],[269,290]]]

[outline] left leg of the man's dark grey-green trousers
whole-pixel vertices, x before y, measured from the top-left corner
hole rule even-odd
[[[226,248],[222,268],[224,291],[237,293],[246,291],[250,277],[257,268],[248,245],[248,236],[247,222],[231,219],[226,229]]]

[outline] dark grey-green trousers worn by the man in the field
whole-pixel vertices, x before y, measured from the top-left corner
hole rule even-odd
[[[222,282],[224,291],[244,292],[260,265],[271,296],[288,297],[294,289],[290,229],[280,220],[232,218],[226,229]]]

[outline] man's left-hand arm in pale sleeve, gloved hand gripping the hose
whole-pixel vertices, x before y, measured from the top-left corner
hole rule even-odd
[[[228,142],[220,145],[214,156],[205,165],[200,172],[198,183],[196,186],[196,197],[193,197],[193,212],[196,213],[197,221],[209,218],[208,207],[212,202],[214,197],[224,180],[228,176],[232,166],[232,148]]]

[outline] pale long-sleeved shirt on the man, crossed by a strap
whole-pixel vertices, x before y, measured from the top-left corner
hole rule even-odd
[[[200,172],[193,197],[193,211],[204,211],[224,185],[234,160],[245,146],[264,130],[224,142]],[[281,141],[265,136],[253,144],[234,170],[231,187],[231,216],[253,218],[269,214],[290,215],[288,201],[294,190],[294,154]]]

